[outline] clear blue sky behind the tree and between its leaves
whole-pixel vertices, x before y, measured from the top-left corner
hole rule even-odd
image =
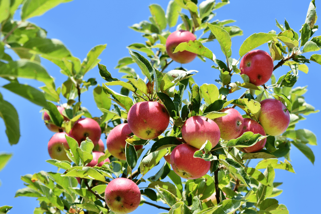
[[[279,32],[275,26],[275,19],[279,23],[284,23],[284,18],[289,22],[292,29],[299,32],[301,25],[304,23],[308,5],[310,1],[307,0],[270,0],[270,1],[231,1],[216,11],[216,17],[213,21],[233,19],[236,20],[233,25],[239,26],[243,30],[243,36],[232,37],[232,58],[239,59],[239,47],[243,41],[258,32],[269,32],[275,30]],[[129,29],[135,23],[143,20],[148,20],[151,16],[148,5],[160,4],[166,11],[168,1],[164,0],[140,0],[140,1],[106,1],[95,0],[85,1],[77,0],[66,4],[61,4],[56,8],[48,11],[40,17],[31,18],[29,21],[48,31],[48,38],[57,38],[61,40],[72,54],[83,60],[88,51],[99,44],[107,44],[106,50],[100,55],[101,64],[106,65],[107,69],[113,77],[121,78],[123,74],[118,73],[115,68],[120,58],[129,56],[127,45],[133,43],[144,43],[146,40],[140,33]],[[317,14],[319,12],[316,1]],[[182,11],[188,14],[187,11]],[[15,17],[18,19],[19,14]],[[181,20],[179,18],[178,23]],[[319,21],[317,21],[319,24]],[[176,28],[171,28],[170,31],[175,31]],[[201,32],[196,32],[199,37]],[[315,33],[315,36],[321,35],[320,30]],[[216,58],[225,61],[221,49],[217,41],[204,44],[216,55]],[[258,49],[268,51],[267,45],[262,45]],[[314,54],[313,52],[312,54]],[[11,53],[10,53],[11,54]],[[319,51],[318,54],[321,54]],[[304,54],[309,58],[311,54]],[[277,63],[277,62],[274,62]],[[42,64],[48,70],[51,76],[55,78],[56,87],[66,80],[66,77],[60,73],[60,69],[42,59]],[[218,70],[212,69],[213,62],[207,60],[206,63],[196,58],[193,62],[184,65],[188,70],[198,70],[199,72],[194,76],[195,82],[200,86],[203,83],[214,83],[218,78]],[[173,62],[167,71],[180,66]],[[307,86],[308,92],[305,95],[306,102],[320,108],[320,80],[321,80],[321,65],[311,62],[308,64],[309,72],[304,74],[299,72],[299,79],[295,86]],[[138,74],[141,74],[138,67],[134,67]],[[274,71],[276,78],[279,78],[285,72],[289,71],[289,67],[283,66]],[[142,75],[141,75],[142,76]],[[88,78],[96,78],[101,85],[104,80],[99,75],[97,67],[92,69],[85,75],[85,80]],[[235,80],[236,81],[236,80]],[[28,83],[33,86],[42,86],[42,83],[32,80],[21,80],[21,83]],[[0,85],[6,84],[5,80],[0,80]],[[93,116],[100,116],[101,112],[93,100],[92,89],[82,94],[82,105],[85,106]],[[117,87],[113,88],[119,91]],[[241,90],[240,90],[241,91]],[[14,95],[0,87],[5,100],[12,103],[18,113],[20,119],[21,138],[17,145],[10,146],[5,135],[5,127],[2,120],[0,120],[0,152],[12,152],[13,157],[7,166],[0,172],[0,206],[10,205],[13,209],[10,213],[33,213],[35,207],[39,207],[39,203],[35,198],[18,197],[14,198],[14,194],[18,189],[24,188],[20,176],[25,174],[34,174],[41,170],[56,172],[56,167],[45,162],[50,159],[48,155],[48,141],[54,134],[49,131],[41,119],[41,108],[23,98]],[[240,94],[243,93],[240,92]],[[239,94],[235,93],[238,98]],[[62,97],[62,96],[61,96]],[[230,97],[232,99],[232,96]],[[306,120],[300,121],[296,129],[306,128],[311,130],[321,139],[320,121],[321,113],[310,114],[306,116]],[[104,139],[105,135],[101,138]],[[104,142],[106,142],[104,140]],[[106,144],[105,144],[106,145]],[[296,172],[290,173],[276,169],[275,182],[283,182],[278,187],[283,190],[280,196],[276,199],[279,204],[285,204],[291,214],[310,213],[319,204],[319,180],[320,180],[320,166],[321,166],[321,150],[320,146],[310,146],[313,150],[316,160],[314,166],[312,163],[296,149],[291,150],[291,164]],[[279,160],[283,161],[284,158]],[[164,161],[164,160],[162,160]],[[253,164],[253,161],[251,164]],[[161,166],[161,165],[159,165]],[[255,165],[253,165],[255,166]],[[156,167],[155,170],[158,170]],[[61,171],[60,171],[61,172]],[[152,172],[150,173],[152,176]],[[140,185],[141,187],[144,184]],[[157,202],[163,205],[161,202]],[[165,205],[166,206],[166,205]],[[165,211],[165,210],[164,210]],[[134,213],[161,213],[163,210],[143,205],[137,208]]]

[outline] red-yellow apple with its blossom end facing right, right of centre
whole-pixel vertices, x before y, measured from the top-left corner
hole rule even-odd
[[[227,115],[215,118],[214,122],[221,130],[221,138],[223,140],[235,139],[239,136],[243,128],[243,117],[238,110],[233,108],[225,108],[220,112],[228,113]]]

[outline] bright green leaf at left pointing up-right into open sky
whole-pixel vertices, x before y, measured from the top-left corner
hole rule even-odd
[[[96,61],[98,56],[103,52],[103,50],[106,49],[107,44],[105,45],[97,45],[93,47],[89,53],[87,54],[87,57],[83,60],[81,64],[81,72],[82,74],[87,73],[90,69],[92,69],[94,66],[96,66]]]

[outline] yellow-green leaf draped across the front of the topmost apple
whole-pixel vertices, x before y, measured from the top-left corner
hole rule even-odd
[[[210,60],[214,61],[216,58],[213,52],[205,47],[201,42],[198,40],[190,40],[188,42],[182,42],[179,45],[176,46],[173,53],[176,53],[178,51],[189,51],[201,56],[204,56],[206,58],[209,58]]]

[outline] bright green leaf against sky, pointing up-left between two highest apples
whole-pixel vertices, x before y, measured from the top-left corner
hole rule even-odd
[[[218,26],[211,25],[211,24],[207,24],[207,26],[209,27],[209,29],[211,30],[211,32],[213,33],[213,35],[215,36],[219,44],[221,45],[221,50],[223,54],[226,56],[226,59],[228,59],[232,55],[232,50],[231,50],[232,41],[231,41],[230,34],[226,30]]]

